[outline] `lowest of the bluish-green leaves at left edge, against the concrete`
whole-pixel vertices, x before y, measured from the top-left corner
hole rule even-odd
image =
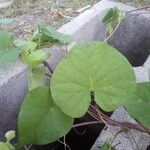
[[[0,51],[0,68],[16,61],[18,59],[19,53],[19,49],[15,48]]]

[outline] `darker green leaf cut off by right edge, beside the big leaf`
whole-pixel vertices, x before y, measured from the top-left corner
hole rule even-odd
[[[150,83],[138,83],[137,99],[125,103],[127,111],[145,126],[150,127]]]

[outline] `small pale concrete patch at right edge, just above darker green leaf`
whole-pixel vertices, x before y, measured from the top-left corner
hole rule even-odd
[[[149,70],[147,68],[142,67],[142,66],[141,67],[133,67],[133,70],[135,72],[137,83],[150,81]]]

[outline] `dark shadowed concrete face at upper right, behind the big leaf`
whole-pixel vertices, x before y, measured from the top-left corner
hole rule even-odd
[[[113,37],[108,41],[133,66],[142,66],[150,54],[150,13],[127,13]]]

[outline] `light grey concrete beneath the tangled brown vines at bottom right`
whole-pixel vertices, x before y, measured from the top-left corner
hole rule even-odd
[[[112,114],[111,118],[116,121],[136,123],[123,107],[119,107]],[[120,130],[121,128],[119,127],[108,126],[107,129],[101,132],[91,150],[100,150],[100,146],[106,141],[112,140]],[[146,150],[149,145],[150,136],[136,130],[119,133],[112,143],[112,146],[115,146],[116,150]]]

